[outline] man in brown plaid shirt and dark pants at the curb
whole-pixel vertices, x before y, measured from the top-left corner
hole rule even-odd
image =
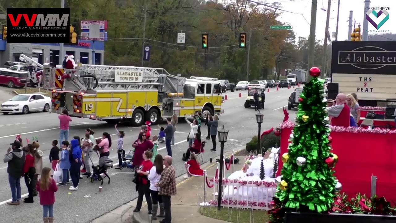
[[[171,196],[176,195],[175,168],[172,166],[171,156],[164,156],[164,165],[165,169],[162,172],[161,179],[155,186],[160,187],[158,195],[162,196],[165,209],[165,217],[160,223],[171,223]]]

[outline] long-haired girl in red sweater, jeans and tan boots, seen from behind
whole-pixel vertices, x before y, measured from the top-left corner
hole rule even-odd
[[[44,167],[41,178],[38,180],[36,190],[39,192],[40,204],[43,206],[44,223],[53,223],[53,204],[55,203],[55,192],[58,186],[51,178],[51,168]]]

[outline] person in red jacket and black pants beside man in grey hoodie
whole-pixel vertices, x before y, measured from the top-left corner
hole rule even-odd
[[[29,195],[27,198],[25,198],[25,200],[23,200],[23,202],[33,203],[34,174],[36,173],[36,168],[34,168],[34,153],[36,151],[34,150],[32,144],[27,145],[27,152],[28,154],[25,156],[25,164],[23,165],[23,174]]]

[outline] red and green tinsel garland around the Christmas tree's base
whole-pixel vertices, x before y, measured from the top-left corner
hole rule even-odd
[[[272,207],[272,209],[268,211],[270,215],[270,221],[268,221],[268,223],[283,223],[286,212],[296,211],[283,207],[276,197],[274,197],[269,206]],[[396,215],[396,208],[392,208],[392,205],[390,202],[386,201],[385,197],[373,196],[371,198],[366,198],[365,195],[356,194],[348,198],[348,196],[343,193],[337,195],[334,199],[333,208],[331,211],[325,213]]]

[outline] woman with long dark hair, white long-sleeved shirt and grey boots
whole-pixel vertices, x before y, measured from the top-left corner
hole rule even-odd
[[[151,216],[155,220],[157,217],[165,217],[164,203],[162,202],[161,195],[158,195],[159,189],[155,186],[161,179],[162,171],[164,171],[164,159],[161,154],[157,154],[154,158],[153,166],[148,171],[148,180],[150,181],[150,194],[152,199]],[[160,214],[157,215],[158,204],[160,205]]]

